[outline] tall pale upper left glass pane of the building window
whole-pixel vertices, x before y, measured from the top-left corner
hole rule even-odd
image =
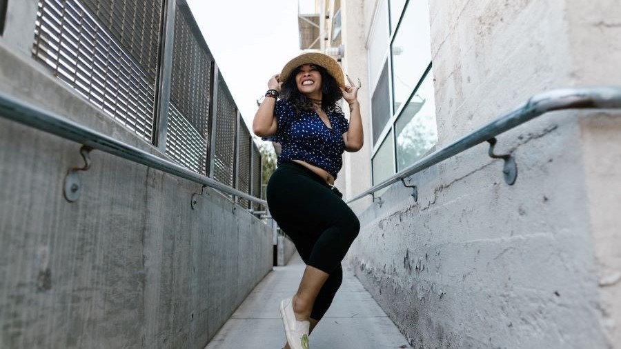
[[[386,12],[386,1],[382,1],[375,14],[373,31],[368,43],[368,74],[371,86],[375,86],[388,52],[388,14]]]

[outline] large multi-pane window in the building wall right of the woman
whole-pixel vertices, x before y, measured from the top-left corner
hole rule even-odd
[[[373,184],[437,143],[428,0],[381,1],[369,34]]]

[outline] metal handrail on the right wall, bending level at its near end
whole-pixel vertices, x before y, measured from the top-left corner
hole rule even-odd
[[[546,112],[593,108],[621,108],[621,86],[564,88],[535,94],[526,103],[517,106],[517,108],[510,112],[506,112],[501,117],[458,139],[449,146],[428,154],[426,157],[408,166],[408,168],[397,172],[393,177],[353,197],[347,203],[362,199],[366,195],[377,192],[377,190],[382,190],[397,181],[402,181],[406,177],[410,177],[436,163],[449,159],[449,157],[453,157],[455,154],[473,146],[489,141],[498,134],[511,130],[511,128],[515,128],[515,126],[519,126]]]

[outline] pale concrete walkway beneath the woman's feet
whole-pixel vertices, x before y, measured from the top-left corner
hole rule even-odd
[[[297,290],[303,270],[304,263],[297,253],[287,266],[275,267],[226,321],[206,349],[282,348],[285,337],[279,302]],[[344,270],[343,284],[310,338],[311,349],[411,348],[349,270]]]

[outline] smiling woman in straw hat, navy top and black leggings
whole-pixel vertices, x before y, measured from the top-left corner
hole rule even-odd
[[[308,349],[308,335],[341,285],[341,261],[360,228],[334,187],[344,150],[356,152],[363,141],[360,86],[347,79],[351,86],[345,85],[338,63],[326,54],[295,57],[268,81],[269,90],[253,121],[257,136],[282,146],[268,183],[268,206],[306,263],[296,294],[280,304],[292,349]],[[342,98],[350,110],[349,121],[338,103]]]

